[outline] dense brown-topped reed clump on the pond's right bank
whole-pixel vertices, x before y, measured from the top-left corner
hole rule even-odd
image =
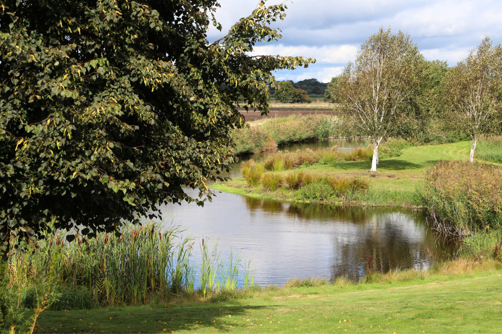
[[[437,228],[470,234],[502,227],[502,170],[467,161],[440,161],[427,171],[424,205]]]

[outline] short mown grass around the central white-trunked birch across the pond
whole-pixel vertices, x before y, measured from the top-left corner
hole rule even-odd
[[[427,169],[440,160],[465,160],[470,149],[470,143],[458,142],[443,145],[414,146],[400,150],[400,156],[381,160],[377,172],[369,172],[371,161],[343,161],[304,166],[301,171],[316,176],[335,177],[340,179],[360,179],[367,182],[369,188],[356,191],[344,198],[331,196],[323,199],[325,202],[363,204],[374,206],[421,206],[421,197],[417,187],[423,185]],[[272,158],[269,158],[272,159]],[[286,176],[290,171],[276,172]],[[235,178],[225,183],[212,185],[213,189],[236,194],[261,198],[274,198],[289,201],[309,201],[301,190],[280,187],[274,191],[259,184],[249,187],[242,178]],[[310,199],[311,200],[311,199]]]

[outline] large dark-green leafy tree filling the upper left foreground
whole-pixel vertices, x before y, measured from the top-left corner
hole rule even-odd
[[[245,125],[238,98],[267,114],[272,72],[313,62],[249,56],[281,38],[269,25],[286,6],[264,1],[214,43],[216,0],[1,5],[4,256],[12,236],[49,223],[92,237],[160,204],[210,200],[206,182],[229,168],[230,131]]]

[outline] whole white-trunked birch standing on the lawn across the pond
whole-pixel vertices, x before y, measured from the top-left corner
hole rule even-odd
[[[355,63],[348,63],[336,80],[332,95],[345,107],[345,121],[373,142],[371,171],[376,171],[380,144],[420,90],[423,64],[423,56],[409,35],[380,28],[361,45]]]

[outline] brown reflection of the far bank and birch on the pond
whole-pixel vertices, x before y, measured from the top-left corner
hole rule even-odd
[[[419,210],[362,208],[328,204],[284,203],[246,198],[249,210],[286,215],[296,223],[323,221],[333,227],[331,278],[358,279],[366,273],[364,258],[371,256],[373,269],[426,269],[451,258],[458,249],[454,239],[431,229]]]

